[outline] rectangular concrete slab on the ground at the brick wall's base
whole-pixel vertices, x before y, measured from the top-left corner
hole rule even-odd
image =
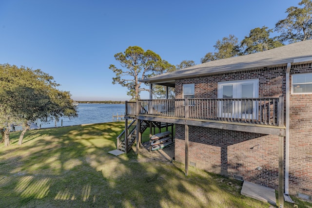
[[[268,202],[271,205],[276,206],[276,197],[274,189],[244,181],[240,193],[242,195],[257,199],[262,202]]]

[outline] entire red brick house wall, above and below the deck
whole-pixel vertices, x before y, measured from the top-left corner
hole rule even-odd
[[[291,74],[302,72],[312,73],[311,64],[292,66]],[[176,98],[182,98],[183,84],[195,83],[195,98],[217,98],[219,81],[256,78],[259,97],[277,97],[285,95],[285,77],[286,67],[280,67],[179,79]],[[290,100],[290,193],[312,195],[312,95],[291,95]],[[189,161],[197,168],[277,188],[278,136],[195,126],[190,126],[189,135]],[[184,163],[183,125],[176,125],[175,145],[175,158]]]

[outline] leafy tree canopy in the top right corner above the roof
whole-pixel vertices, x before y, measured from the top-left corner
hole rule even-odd
[[[297,42],[312,38],[312,1],[302,0],[299,8],[291,6],[286,10],[286,19],[275,24],[275,31],[280,32],[282,42]]]

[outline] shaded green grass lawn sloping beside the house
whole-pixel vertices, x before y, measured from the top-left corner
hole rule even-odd
[[[12,132],[11,145],[0,145],[0,207],[269,208],[240,195],[240,181],[194,167],[186,177],[183,164],[134,151],[109,154],[123,128],[112,122],[32,130],[21,146],[20,132]]]

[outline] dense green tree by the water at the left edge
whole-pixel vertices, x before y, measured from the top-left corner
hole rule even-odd
[[[23,124],[19,144],[29,122],[49,121],[60,116],[73,118],[77,109],[69,92],[59,91],[52,76],[28,67],[0,64],[0,128],[9,131],[12,123]],[[4,136],[9,145],[9,132]]]

